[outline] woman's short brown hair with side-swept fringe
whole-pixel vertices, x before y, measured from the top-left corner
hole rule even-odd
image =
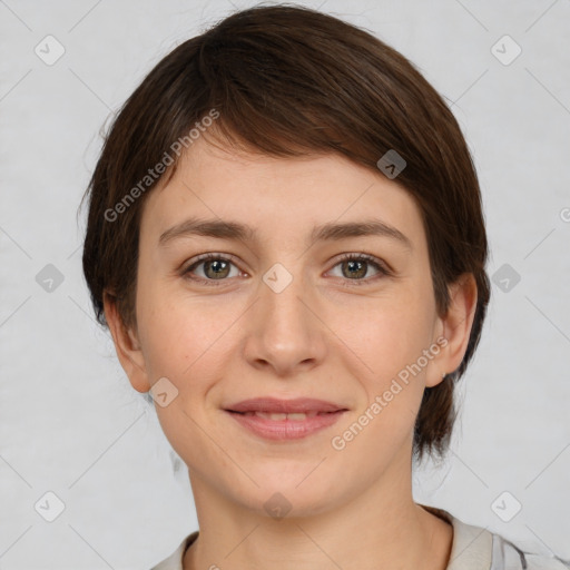
[[[479,343],[490,296],[475,168],[453,114],[413,63],[332,16],[289,4],[237,11],[175,48],[128,98],[83,196],[82,264],[98,322],[107,326],[104,294],[110,294],[124,324],[136,326],[139,222],[148,195],[140,180],[213,109],[219,118],[206,136],[222,134],[236,148],[276,157],[336,153],[375,173],[389,150],[405,159],[397,183],[422,214],[439,314],[461,274],[472,273],[478,287],[463,361],[425,389],[415,423],[414,458],[443,456],[456,416],[453,387]],[[177,158],[147,180],[147,190],[169,179]],[[126,203],[136,185],[130,196],[137,199]]]

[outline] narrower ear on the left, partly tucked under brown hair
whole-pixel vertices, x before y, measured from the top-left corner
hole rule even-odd
[[[137,392],[148,392],[151,386],[137,333],[127,328],[117,309],[117,297],[107,291],[104,292],[104,309],[122,370]]]

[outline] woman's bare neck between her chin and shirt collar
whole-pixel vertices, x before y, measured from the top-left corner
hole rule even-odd
[[[444,570],[453,529],[413,501],[411,469],[403,472],[325,512],[283,519],[236,504],[189,472],[200,532],[184,570]]]

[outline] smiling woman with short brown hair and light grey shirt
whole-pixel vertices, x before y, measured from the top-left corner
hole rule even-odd
[[[136,89],[86,197],[97,317],[196,503],[155,570],[568,568],[412,497],[490,287],[465,141],[402,55],[234,13]]]

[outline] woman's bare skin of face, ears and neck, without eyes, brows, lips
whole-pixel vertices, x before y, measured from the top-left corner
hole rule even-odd
[[[308,247],[314,225],[371,213],[407,236],[412,249],[386,236]],[[247,224],[259,240],[186,236],[158,245],[189,216]],[[183,276],[204,253],[236,261],[222,279],[204,263]],[[338,261],[344,253],[373,255],[393,275],[364,263],[354,277]],[[263,281],[275,263],[293,277],[279,293]],[[121,326],[111,297],[105,302],[134,389],[147,392],[166,376],[178,390],[156,410],[188,466],[200,528],[185,570],[446,567],[453,530],[413,501],[411,452],[424,389],[460,365],[469,341],[473,277],[450,293],[440,316],[420,210],[397,179],[336,155],[273,158],[219,149],[204,137],[189,148],[144,207],[137,326]],[[421,373],[345,449],[333,449],[331,439],[441,336],[446,346]],[[348,412],[303,440],[271,442],[223,411],[268,395],[318,397]],[[291,504],[283,519],[264,508],[275,492]]]

